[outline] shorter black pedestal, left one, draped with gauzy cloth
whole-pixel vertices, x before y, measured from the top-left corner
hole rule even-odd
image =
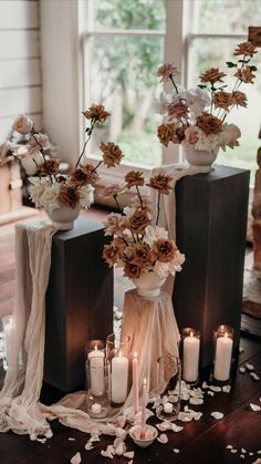
[[[79,218],[53,237],[46,292],[44,381],[83,389],[84,343],[113,332],[113,271],[102,258],[104,225]]]

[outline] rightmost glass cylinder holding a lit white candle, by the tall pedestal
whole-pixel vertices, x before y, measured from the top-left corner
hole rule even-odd
[[[213,331],[213,370],[212,378],[218,382],[229,382],[233,351],[233,329],[219,326]]]

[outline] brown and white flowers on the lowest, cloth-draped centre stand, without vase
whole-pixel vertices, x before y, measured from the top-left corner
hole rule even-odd
[[[148,187],[160,195],[168,195],[171,190],[173,178],[164,173],[150,177]],[[140,194],[145,185],[143,172],[130,171],[125,175],[125,185],[108,186],[103,190],[104,196],[113,196],[121,208],[118,195],[125,189],[135,188],[137,195],[130,207],[121,213],[112,213],[106,220],[105,235],[112,236],[112,243],[104,246],[103,257],[112,267],[124,268],[124,276],[139,278],[145,272],[155,271],[159,278],[181,270],[185,260],[168,233],[158,227],[159,200],[156,225],[153,225],[154,208],[148,196]]]

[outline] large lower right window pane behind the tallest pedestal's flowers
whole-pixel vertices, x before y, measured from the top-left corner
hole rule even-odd
[[[233,61],[233,51],[239,41],[237,39],[196,39],[192,42],[190,51],[190,61],[188,66],[189,82],[188,86],[198,85],[199,74],[209,68],[219,68],[229,74],[225,84],[228,85],[228,92],[232,91],[234,84],[233,70],[226,66],[226,61]],[[254,172],[257,169],[257,151],[260,146],[258,138],[261,125],[261,52],[259,51],[253,60],[258,68],[254,84],[242,84],[240,90],[247,94],[248,107],[234,109],[228,122],[237,124],[241,130],[240,146],[226,153],[220,149],[218,163],[237,167],[251,169],[251,184],[253,184]]]

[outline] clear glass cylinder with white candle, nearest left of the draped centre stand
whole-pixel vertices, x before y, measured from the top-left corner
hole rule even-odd
[[[122,405],[128,394],[130,337],[119,338],[115,333],[107,337],[106,355],[111,361],[111,401],[112,405]]]

